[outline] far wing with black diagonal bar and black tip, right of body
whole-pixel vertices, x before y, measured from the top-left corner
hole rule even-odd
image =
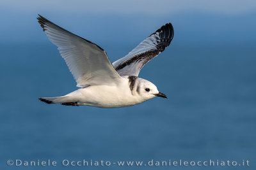
[[[163,52],[173,39],[171,23],[163,25],[156,32],[148,36],[125,57],[113,62],[113,66],[120,76],[138,76],[141,68],[151,59]]]

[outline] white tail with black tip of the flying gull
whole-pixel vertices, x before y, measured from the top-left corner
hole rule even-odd
[[[77,101],[74,101],[71,96],[41,97],[39,100],[47,104],[61,103],[66,106],[78,106]]]

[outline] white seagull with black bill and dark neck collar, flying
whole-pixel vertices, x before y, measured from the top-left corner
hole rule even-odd
[[[95,43],[38,15],[38,23],[50,41],[58,46],[61,57],[80,89],[60,97],[41,97],[47,104],[66,106],[94,106],[98,108],[122,108],[143,103],[154,97],[167,98],[156,85],[139,78],[141,68],[163,52],[173,39],[171,23],[136,46],[125,57],[111,64],[107,53]]]

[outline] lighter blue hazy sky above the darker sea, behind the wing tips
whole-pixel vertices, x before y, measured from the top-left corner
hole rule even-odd
[[[102,45],[137,45],[166,22],[177,45],[253,45],[256,1],[1,1],[0,43],[42,43],[40,13]],[[41,31],[41,32],[40,32]]]

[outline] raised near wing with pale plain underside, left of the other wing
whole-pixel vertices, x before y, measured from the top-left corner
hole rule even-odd
[[[61,56],[76,79],[77,87],[111,85],[122,79],[100,46],[68,32],[41,15],[37,19],[48,38],[58,46]]]

